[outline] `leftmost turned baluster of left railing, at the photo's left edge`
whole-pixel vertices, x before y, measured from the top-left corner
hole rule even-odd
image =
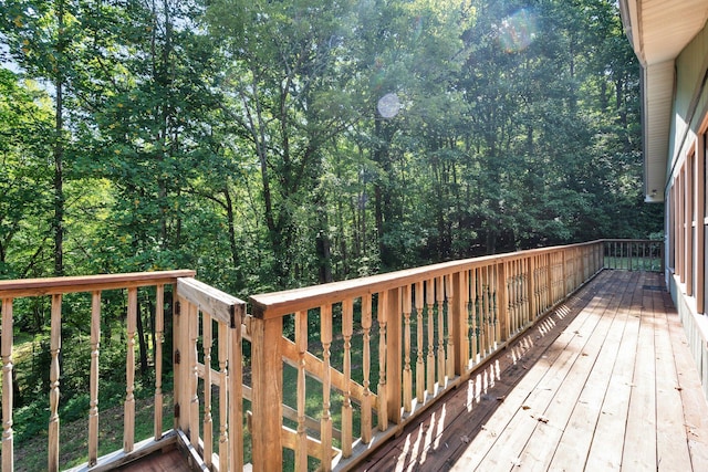
[[[2,470],[14,470],[12,432],[12,298],[2,298]]]

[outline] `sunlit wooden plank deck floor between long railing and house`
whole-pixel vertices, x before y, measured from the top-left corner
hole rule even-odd
[[[660,274],[604,271],[368,471],[708,471],[708,406]]]

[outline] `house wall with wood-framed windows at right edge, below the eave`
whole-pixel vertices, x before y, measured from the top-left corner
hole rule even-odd
[[[666,282],[686,331],[708,397],[708,316],[706,313],[705,198],[708,127],[708,27],[676,59],[676,86],[667,159]],[[704,201],[699,201],[704,200]],[[699,227],[701,229],[699,230]],[[673,248],[678,248],[674,252]],[[669,251],[671,251],[669,253]]]

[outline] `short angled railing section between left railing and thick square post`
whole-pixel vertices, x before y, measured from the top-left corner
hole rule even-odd
[[[240,471],[243,469],[241,332],[246,303],[194,279],[177,281],[177,301],[175,427],[180,443],[188,444],[195,463],[210,470]],[[215,387],[218,387],[217,405],[212,405]]]

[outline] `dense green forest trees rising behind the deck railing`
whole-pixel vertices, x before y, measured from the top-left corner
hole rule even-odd
[[[0,277],[237,295],[660,231],[610,0],[2,0]]]

